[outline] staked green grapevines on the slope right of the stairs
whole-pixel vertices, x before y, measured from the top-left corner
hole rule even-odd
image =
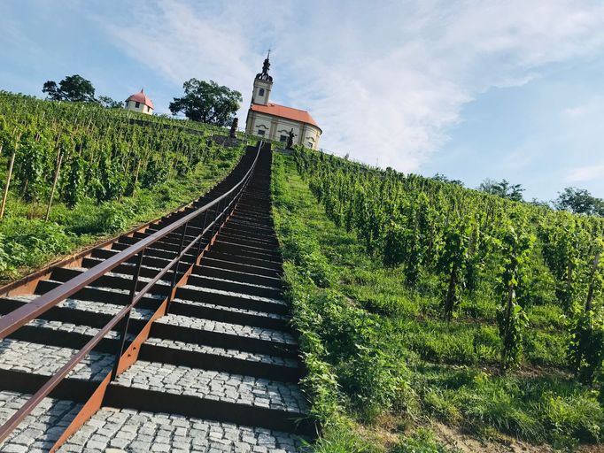
[[[330,219],[417,288],[437,276],[452,320],[478,288],[497,295],[501,368],[522,357],[527,307],[554,285],[570,329],[569,366],[585,381],[604,358],[604,219],[512,202],[456,184],[298,149],[298,172]],[[542,272],[545,269],[546,272]],[[486,293],[485,293],[486,294]]]

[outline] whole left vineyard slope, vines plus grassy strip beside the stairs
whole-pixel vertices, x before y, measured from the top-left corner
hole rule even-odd
[[[189,203],[241,156],[226,134],[0,93],[0,280]]]

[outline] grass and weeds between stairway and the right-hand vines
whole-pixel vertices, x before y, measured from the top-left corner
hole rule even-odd
[[[490,302],[466,303],[465,319],[438,319],[430,282],[423,291],[405,288],[400,269],[384,268],[335,226],[292,159],[276,153],[273,196],[308,369],[303,384],[322,426],[317,451],[455,451],[432,434],[432,421],[495,446],[600,441],[597,392],[561,367],[567,339],[559,311],[530,311],[527,364],[499,375],[495,320],[473,319]]]

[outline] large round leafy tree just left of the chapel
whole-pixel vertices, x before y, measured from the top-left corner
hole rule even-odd
[[[183,112],[193,121],[226,127],[230,125],[240,103],[244,100],[236,90],[221,86],[215,81],[191,79],[182,85],[184,96],[174,97],[170,111]]]

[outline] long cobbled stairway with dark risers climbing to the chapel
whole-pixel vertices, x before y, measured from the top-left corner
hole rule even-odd
[[[220,196],[251,165],[252,149],[229,177],[188,210],[93,250],[75,267],[58,267],[34,294],[4,296],[0,314],[29,303],[98,265],[119,250]],[[252,180],[169,314],[151,326],[138,360],[112,381],[102,408],[59,451],[300,451],[313,434],[298,388],[301,367],[289,307],[283,301],[282,260],[271,219],[270,148],[262,150]],[[187,230],[189,232],[190,230]],[[193,232],[194,233],[194,232]],[[193,234],[191,233],[191,234]],[[141,282],[178,250],[167,236],[143,258]],[[190,264],[196,257],[185,257]],[[0,343],[0,423],[27,394],[128,302],[135,262],[82,288]],[[169,291],[170,274],[132,313],[131,339]],[[93,353],[3,442],[0,451],[48,451],[113,365],[117,332]]]

